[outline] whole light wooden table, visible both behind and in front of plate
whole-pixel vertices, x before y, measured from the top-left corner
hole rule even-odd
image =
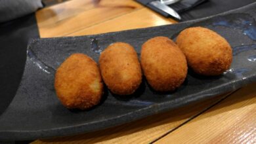
[[[132,0],[72,0],[36,13],[41,37],[173,24]],[[256,83],[135,122],[33,143],[256,143]]]

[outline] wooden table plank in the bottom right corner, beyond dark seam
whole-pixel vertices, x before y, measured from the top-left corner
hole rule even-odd
[[[256,143],[255,88],[242,88],[156,143]]]

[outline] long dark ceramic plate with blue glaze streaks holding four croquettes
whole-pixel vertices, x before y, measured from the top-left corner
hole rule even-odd
[[[188,103],[213,98],[256,81],[256,3],[219,16],[169,26],[119,31],[83,37],[34,39],[20,87],[0,116],[0,139],[35,139],[79,134],[131,122]],[[175,92],[154,92],[144,80],[131,98],[113,96],[105,90],[102,103],[89,111],[70,111],[54,92],[55,69],[70,54],[81,52],[98,61],[100,51],[111,43],[130,43],[140,52],[147,39],[159,35],[175,39],[190,26],[217,31],[233,48],[232,67],[219,77],[202,77],[189,71]]]

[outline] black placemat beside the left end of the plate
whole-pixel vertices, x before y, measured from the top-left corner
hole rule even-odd
[[[0,117],[16,94],[28,40],[39,37],[35,14],[0,24]]]

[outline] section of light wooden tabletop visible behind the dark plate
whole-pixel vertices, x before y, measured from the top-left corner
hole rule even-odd
[[[131,0],[72,0],[36,12],[41,37],[90,35],[173,24]]]

